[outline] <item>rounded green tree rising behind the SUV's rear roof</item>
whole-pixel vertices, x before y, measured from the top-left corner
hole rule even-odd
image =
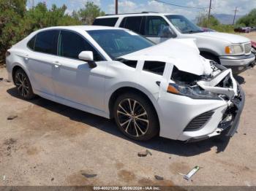
[[[76,13],[73,12],[73,15]],[[78,10],[77,15],[84,24],[91,25],[96,17],[105,15],[105,12],[102,12],[94,2],[87,1],[85,7]]]

